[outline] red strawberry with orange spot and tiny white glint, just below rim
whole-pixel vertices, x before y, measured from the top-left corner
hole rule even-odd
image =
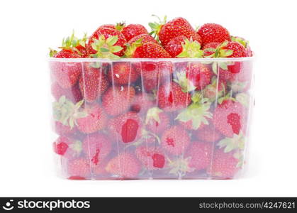
[[[139,75],[138,67],[130,62],[113,62],[108,80],[112,84],[130,84],[138,80]]]

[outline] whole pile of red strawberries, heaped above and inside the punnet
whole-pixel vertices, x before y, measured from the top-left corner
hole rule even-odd
[[[215,23],[198,31],[184,18],[149,25],[151,33],[103,25],[50,51],[54,150],[65,176],[233,178],[252,102],[247,41]]]

